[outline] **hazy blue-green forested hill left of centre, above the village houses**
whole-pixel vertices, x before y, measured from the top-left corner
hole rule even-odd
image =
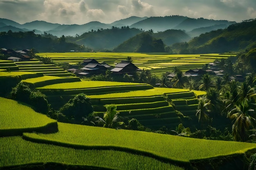
[[[74,42],[77,44],[83,44],[84,46],[90,47],[94,50],[112,50],[115,46],[118,46],[138,33],[141,33],[139,29],[119,29],[114,27],[112,29],[95,30],[84,33],[77,37]]]

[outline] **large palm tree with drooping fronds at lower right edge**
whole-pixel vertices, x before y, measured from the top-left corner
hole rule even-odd
[[[227,117],[235,119],[232,126],[232,134],[235,141],[245,141],[246,131],[254,127],[256,122],[255,110],[249,107],[247,99],[241,102],[236,108],[229,111]]]

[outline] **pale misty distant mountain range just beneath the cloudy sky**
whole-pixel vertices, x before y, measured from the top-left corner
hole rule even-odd
[[[137,28],[141,30],[153,30],[154,32],[166,31],[170,29],[180,29],[187,32],[190,36],[198,36],[205,31],[212,31],[216,28],[224,29],[236,22],[230,22],[227,20],[208,20],[204,18],[188,18],[180,15],[172,15],[165,17],[136,17],[132,16],[126,19],[112,22],[111,24],[104,24],[101,22],[89,22],[86,24],[54,24],[45,21],[33,21],[25,24],[19,24],[12,20],[0,18],[0,32],[2,31],[33,31],[37,34],[43,34],[44,32],[50,33],[54,36],[61,37],[81,35],[88,31],[98,29],[110,29],[112,27],[121,28],[122,26],[129,26],[130,28]],[[205,28],[205,29],[203,29]],[[196,31],[194,31],[196,29]]]

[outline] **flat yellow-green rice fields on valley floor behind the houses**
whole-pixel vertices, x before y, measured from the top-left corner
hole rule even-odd
[[[186,54],[170,55],[167,53],[38,53],[42,57],[50,57],[56,63],[78,63],[88,58],[98,62],[106,62],[110,66],[132,57],[132,62],[141,69],[149,69],[151,73],[161,76],[162,73],[173,71],[178,66],[182,71],[202,68],[202,65],[211,63],[216,59],[228,58],[231,55],[219,54]]]

